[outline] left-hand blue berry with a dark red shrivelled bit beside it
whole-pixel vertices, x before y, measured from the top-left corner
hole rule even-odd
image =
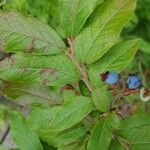
[[[119,81],[119,75],[116,72],[109,72],[107,75],[107,79],[105,80],[108,84],[116,84]]]

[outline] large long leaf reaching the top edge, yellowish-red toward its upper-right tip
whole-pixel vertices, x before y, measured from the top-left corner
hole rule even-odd
[[[136,0],[108,0],[98,7],[75,40],[75,53],[81,63],[95,62],[118,41],[135,4]]]

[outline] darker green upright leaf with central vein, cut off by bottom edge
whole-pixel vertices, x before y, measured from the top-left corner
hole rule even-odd
[[[87,150],[108,150],[111,142],[112,126],[116,125],[116,117],[116,115],[110,114],[97,122],[88,141]]]

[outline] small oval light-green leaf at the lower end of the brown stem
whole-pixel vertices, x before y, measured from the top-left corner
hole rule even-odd
[[[111,100],[108,97],[108,91],[104,88],[95,88],[92,92],[92,99],[101,112],[107,112],[110,109]]]

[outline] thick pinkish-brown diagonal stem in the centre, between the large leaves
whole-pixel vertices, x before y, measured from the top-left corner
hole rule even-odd
[[[72,62],[75,64],[77,69],[80,71],[81,79],[84,81],[84,83],[88,87],[89,91],[92,92],[93,87],[88,79],[86,67],[84,65],[80,65],[74,55],[74,39],[68,39],[68,43],[69,43],[70,48],[68,48],[67,55],[72,60]]]

